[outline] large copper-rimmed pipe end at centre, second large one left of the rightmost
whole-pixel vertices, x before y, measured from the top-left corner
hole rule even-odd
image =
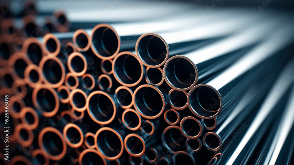
[[[134,91],[133,105],[142,117],[154,119],[163,113],[165,98],[158,88],[141,85]]]

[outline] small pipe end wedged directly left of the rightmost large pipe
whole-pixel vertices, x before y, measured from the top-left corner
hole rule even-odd
[[[168,100],[171,108],[175,110],[183,110],[188,107],[187,103],[188,93],[186,91],[178,91],[175,89],[171,89],[168,92]]]

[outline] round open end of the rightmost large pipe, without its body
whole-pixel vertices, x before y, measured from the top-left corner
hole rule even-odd
[[[207,84],[193,87],[188,93],[187,100],[191,112],[203,119],[215,118],[223,104],[220,93]]]

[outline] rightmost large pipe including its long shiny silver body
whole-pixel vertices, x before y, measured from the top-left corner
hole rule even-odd
[[[235,62],[235,64],[225,69],[216,77],[206,81],[205,84],[194,86],[189,91],[187,97],[188,107],[191,112],[194,115],[203,119],[211,119],[218,116],[223,108],[223,105],[225,106],[228,103],[228,100],[226,100],[226,97],[230,95],[228,95],[228,93],[237,94],[238,91],[240,91],[232,91],[232,88],[235,86],[236,83],[238,83],[238,78],[241,75],[249,73],[251,69],[254,69],[251,68],[253,66],[252,63],[256,61],[258,57],[260,57],[260,55],[264,55],[263,58],[260,59],[260,65],[265,65],[262,63],[263,61],[265,61],[269,57],[276,55],[278,51],[290,44],[292,39],[291,36],[288,34],[288,30],[290,30],[290,28],[292,27],[293,24],[289,24],[288,26],[285,26],[285,29],[275,32],[271,37],[269,37],[266,42],[262,42],[261,44],[250,50],[250,52],[241,57],[237,62]],[[273,37],[276,35],[283,37],[284,42],[279,42],[279,40]],[[265,48],[273,43],[279,43],[279,47],[276,47],[269,53],[265,54]],[[258,70],[258,67],[251,73],[257,72],[256,70]],[[254,78],[255,77],[248,77],[247,81],[250,82],[254,80]]]

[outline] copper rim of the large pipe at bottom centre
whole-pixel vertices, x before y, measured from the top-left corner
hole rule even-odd
[[[102,131],[111,131],[111,132],[115,133],[116,136],[119,138],[119,140],[121,141],[121,151],[118,153],[118,155],[113,156],[113,157],[109,157],[109,156],[106,156],[106,155],[103,153],[103,151],[101,151],[101,149],[100,149],[99,146],[98,146],[97,138],[98,138],[99,133],[101,133]],[[95,141],[95,148],[97,149],[97,151],[100,151],[100,152],[102,153],[102,156],[103,156],[105,159],[107,159],[107,160],[116,160],[116,159],[118,159],[119,157],[121,157],[121,155],[123,154],[123,138],[122,138],[121,135],[120,135],[117,131],[115,131],[114,129],[109,128],[109,127],[102,127],[102,128],[100,128],[100,129],[95,133],[95,138],[94,138],[94,139],[95,139],[95,140],[94,140],[94,141]]]

